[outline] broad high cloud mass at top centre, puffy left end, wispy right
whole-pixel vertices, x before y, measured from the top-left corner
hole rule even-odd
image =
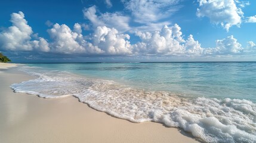
[[[121,12],[100,13],[97,7],[85,8],[84,18],[90,20],[92,27],[106,26],[117,29],[120,33],[135,31],[155,31],[161,30],[164,25],[170,25],[169,16],[181,8],[180,0],[140,0],[122,1],[131,15],[124,15]],[[131,18],[132,17],[132,18]],[[134,21],[138,26],[129,26],[130,21]]]

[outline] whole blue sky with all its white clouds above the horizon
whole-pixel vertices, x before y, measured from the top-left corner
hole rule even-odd
[[[256,61],[256,1],[2,0],[16,63]]]

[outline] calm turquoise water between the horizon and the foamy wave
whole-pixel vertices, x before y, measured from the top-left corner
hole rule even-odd
[[[187,97],[256,101],[256,63],[72,63],[28,64],[115,80],[150,91]]]

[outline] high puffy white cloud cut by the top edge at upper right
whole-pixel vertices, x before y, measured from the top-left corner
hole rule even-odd
[[[243,12],[234,0],[198,0],[198,17],[208,17],[212,23],[221,24],[227,31],[236,25],[240,26]]]

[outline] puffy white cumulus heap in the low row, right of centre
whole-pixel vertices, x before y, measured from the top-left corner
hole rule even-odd
[[[243,52],[242,45],[232,36],[217,40],[216,46],[202,48],[201,43],[195,41],[193,35],[184,39],[181,27],[178,24],[168,27],[164,26],[161,31],[154,33],[137,32],[141,42],[136,43],[134,52],[137,54],[171,55],[196,57],[205,55],[232,55]]]

